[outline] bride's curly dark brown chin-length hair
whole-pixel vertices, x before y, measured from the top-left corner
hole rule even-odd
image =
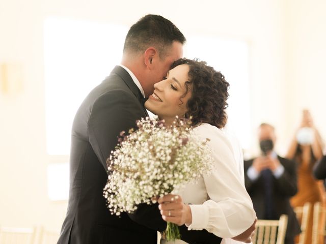
[[[187,102],[188,111],[186,118],[192,117],[192,124],[208,123],[219,129],[227,122],[226,108],[229,97],[230,84],[225,80],[221,72],[215,71],[206,62],[197,58],[180,58],[176,60],[171,69],[178,65],[189,66],[189,81],[185,82],[186,93],[191,89],[192,96]]]

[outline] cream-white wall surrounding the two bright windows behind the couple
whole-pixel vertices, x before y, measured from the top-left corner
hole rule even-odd
[[[59,230],[66,212],[65,201],[51,202],[46,193],[49,158],[45,151],[42,28],[50,15],[131,25],[145,14],[156,13],[172,20],[185,36],[246,40],[251,56],[253,124],[244,130],[254,133],[262,121],[274,124],[282,150],[301,107],[309,106],[319,125],[326,122],[319,99],[325,90],[322,23],[326,6],[321,6],[322,0],[286,4],[282,0],[203,0],[200,5],[198,1],[171,0],[0,1],[0,63],[20,63],[24,72],[22,92],[0,95],[0,225],[42,224]]]

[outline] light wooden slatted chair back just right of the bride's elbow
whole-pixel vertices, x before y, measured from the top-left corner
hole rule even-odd
[[[253,244],[284,244],[287,215],[279,220],[257,220]]]

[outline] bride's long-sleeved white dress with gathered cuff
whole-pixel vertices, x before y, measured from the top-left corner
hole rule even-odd
[[[225,133],[209,124],[195,128],[196,134],[209,138],[209,146],[213,151],[215,169],[207,176],[203,175],[197,184],[189,182],[185,188],[173,192],[182,197],[184,203],[192,210],[193,222],[188,229],[206,229],[217,236],[224,237],[222,243],[241,243],[232,240],[252,225],[256,218],[252,201],[244,187],[243,159],[240,150],[230,143]],[[242,162],[239,162],[242,160]],[[241,165],[239,165],[239,163]],[[242,169],[242,171],[241,171]],[[182,240],[174,242],[161,240],[161,244],[182,244]]]

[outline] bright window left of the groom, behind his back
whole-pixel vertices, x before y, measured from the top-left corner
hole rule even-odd
[[[44,23],[46,148],[68,155],[74,115],[120,63],[125,26],[51,17]]]

